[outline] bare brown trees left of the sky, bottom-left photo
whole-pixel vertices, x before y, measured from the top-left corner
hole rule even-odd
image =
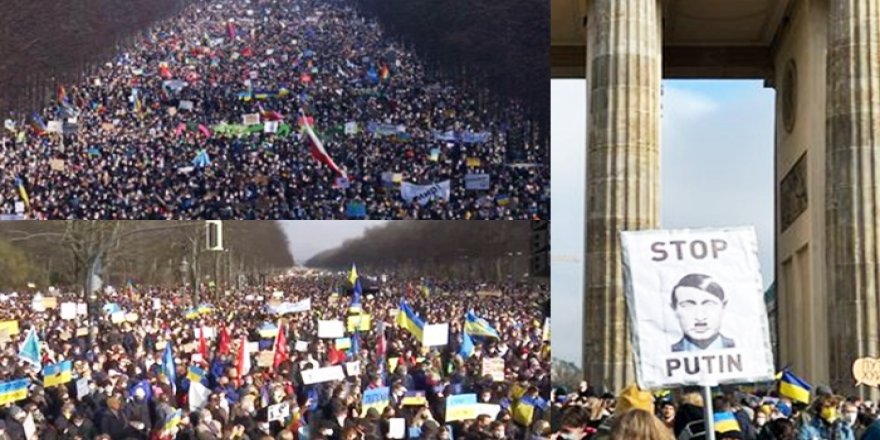
[[[0,222],[0,289],[104,284],[235,284],[288,269],[287,237],[272,221],[224,221],[220,252],[201,221]],[[184,260],[186,261],[184,263]]]

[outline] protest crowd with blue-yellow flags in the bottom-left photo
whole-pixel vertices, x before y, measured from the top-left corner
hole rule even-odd
[[[0,439],[547,438],[549,288],[391,278],[4,293]]]

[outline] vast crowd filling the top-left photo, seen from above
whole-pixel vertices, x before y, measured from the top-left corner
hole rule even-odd
[[[345,0],[196,1],[0,135],[0,214],[531,219],[549,148]]]

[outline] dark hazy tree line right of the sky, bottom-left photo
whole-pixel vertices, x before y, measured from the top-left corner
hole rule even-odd
[[[531,225],[527,220],[394,221],[321,252],[305,264],[367,274],[399,273],[484,281],[522,279],[528,271]]]

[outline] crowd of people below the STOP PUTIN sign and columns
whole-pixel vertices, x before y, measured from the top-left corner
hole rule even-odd
[[[871,400],[816,387],[793,399],[782,389],[750,394],[733,391],[712,398],[716,439],[878,440],[880,411]],[[699,390],[650,393],[631,385],[618,396],[586,381],[574,390],[555,388],[554,438],[597,440],[705,439],[704,401]]]

